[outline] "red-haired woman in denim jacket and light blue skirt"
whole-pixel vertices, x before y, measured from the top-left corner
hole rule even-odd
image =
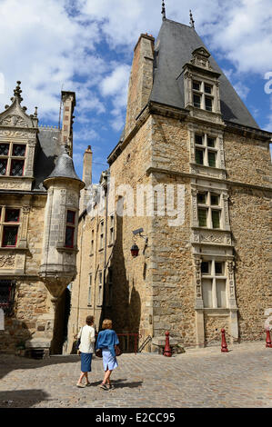
[[[99,387],[103,390],[109,390],[114,389],[114,386],[110,382],[110,375],[118,366],[115,345],[119,344],[119,340],[116,332],[112,329],[111,320],[105,319],[102,323],[102,329],[103,331],[98,333],[96,350],[100,349],[102,351],[105,376]]]

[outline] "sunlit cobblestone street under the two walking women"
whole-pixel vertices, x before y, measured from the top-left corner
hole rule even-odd
[[[190,349],[171,358],[122,354],[112,374],[115,390],[94,358],[90,387],[79,389],[77,355],[32,360],[0,355],[1,408],[267,408],[272,406],[272,350],[261,343]]]

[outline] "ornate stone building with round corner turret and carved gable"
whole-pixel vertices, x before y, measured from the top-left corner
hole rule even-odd
[[[62,353],[85,185],[72,160],[76,94],[62,92],[54,128],[26,114],[21,93],[17,82],[0,114],[0,352]]]

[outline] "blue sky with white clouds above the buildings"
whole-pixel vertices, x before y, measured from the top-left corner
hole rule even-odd
[[[192,9],[197,34],[272,131],[272,0],[165,3],[166,17],[186,25]],[[0,14],[1,111],[20,80],[27,113],[37,105],[40,124],[57,125],[61,89],[75,91],[76,172],[91,145],[96,183],[125,123],[133,49],[141,33],[158,34],[161,0],[0,0]]]

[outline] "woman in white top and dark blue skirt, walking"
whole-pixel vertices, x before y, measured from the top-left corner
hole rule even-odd
[[[94,316],[87,316],[86,325],[81,328],[77,335],[77,339],[80,338],[78,350],[81,353],[81,374],[78,382],[76,382],[77,387],[86,387],[91,385],[88,380],[88,372],[92,371],[92,357],[95,352],[94,343],[96,341],[95,328],[93,325]],[[82,382],[84,377],[86,377],[86,385]]]

